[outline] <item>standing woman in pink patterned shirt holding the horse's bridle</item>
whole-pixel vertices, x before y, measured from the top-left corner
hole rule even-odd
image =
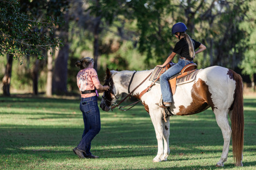
[[[83,113],[84,133],[79,145],[73,149],[79,158],[99,158],[92,155],[91,141],[100,132],[100,111],[97,103],[97,91],[108,90],[109,86],[102,86],[97,72],[93,69],[93,59],[85,57],[76,62],[80,67],[77,73],[77,86],[81,92],[80,110]]]

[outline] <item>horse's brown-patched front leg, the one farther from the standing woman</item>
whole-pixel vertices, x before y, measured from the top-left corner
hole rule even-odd
[[[170,117],[166,118],[166,122],[162,121],[162,128],[163,128],[163,134],[164,134],[164,155],[162,156],[161,160],[166,161],[168,155],[170,154],[170,148],[169,148],[169,136],[170,136]]]

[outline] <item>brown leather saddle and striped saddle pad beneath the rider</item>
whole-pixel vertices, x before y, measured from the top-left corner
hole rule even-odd
[[[172,65],[174,65],[174,63],[169,63],[165,67],[156,67],[153,74],[151,74],[149,81],[156,81],[157,83],[160,83],[159,77]],[[169,79],[172,95],[175,94],[176,87],[178,85],[193,81],[199,71],[200,70],[197,69],[197,65],[195,63],[191,63],[183,67],[180,73],[173,75],[173,77]]]

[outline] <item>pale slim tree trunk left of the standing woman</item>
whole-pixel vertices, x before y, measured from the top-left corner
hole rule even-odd
[[[46,96],[52,96],[52,54],[50,50],[47,52],[47,80],[46,80]]]

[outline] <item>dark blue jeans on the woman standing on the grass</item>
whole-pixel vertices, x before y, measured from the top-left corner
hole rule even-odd
[[[86,156],[92,155],[91,141],[100,132],[100,110],[97,96],[82,98],[80,110],[83,113],[84,133],[77,148],[83,150]]]

